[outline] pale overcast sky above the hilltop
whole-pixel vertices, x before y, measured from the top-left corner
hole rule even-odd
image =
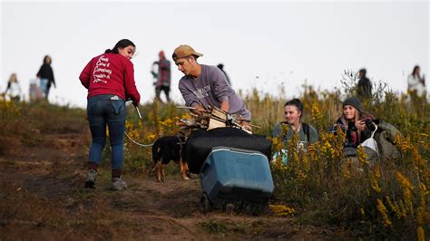
[[[171,59],[183,43],[204,54],[200,63],[223,63],[236,91],[278,95],[284,86],[289,98],[305,81],[332,90],[344,70],[366,67],[372,81],[406,92],[415,64],[429,90],[428,1],[2,1],[0,8],[0,92],[16,72],[28,94],[49,54],[57,83],[50,100],[62,104],[86,105],[80,72],[122,38],[137,47],[132,63],[143,102],[155,95],[150,71],[159,51]],[[172,99],[183,102],[182,73],[171,67]]]

